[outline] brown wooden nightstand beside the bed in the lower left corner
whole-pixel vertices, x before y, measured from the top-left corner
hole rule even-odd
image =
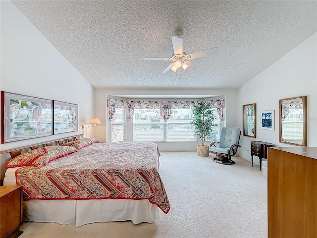
[[[22,223],[22,186],[0,186],[0,238],[20,236]]]

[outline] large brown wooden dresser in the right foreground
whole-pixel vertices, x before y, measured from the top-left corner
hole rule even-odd
[[[269,147],[268,238],[317,238],[317,147]]]

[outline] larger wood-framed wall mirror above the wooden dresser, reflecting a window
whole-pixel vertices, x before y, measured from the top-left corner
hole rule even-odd
[[[306,96],[279,100],[279,142],[306,146]]]

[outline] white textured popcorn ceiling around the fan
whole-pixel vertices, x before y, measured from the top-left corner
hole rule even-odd
[[[317,32],[311,1],[12,2],[94,88],[236,89]],[[171,37],[187,54],[217,47],[176,73]]]

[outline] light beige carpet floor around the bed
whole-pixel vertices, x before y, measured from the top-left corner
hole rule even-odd
[[[171,209],[152,224],[26,222],[20,238],[266,238],[267,180],[239,157],[220,165],[196,152],[161,152]]]

